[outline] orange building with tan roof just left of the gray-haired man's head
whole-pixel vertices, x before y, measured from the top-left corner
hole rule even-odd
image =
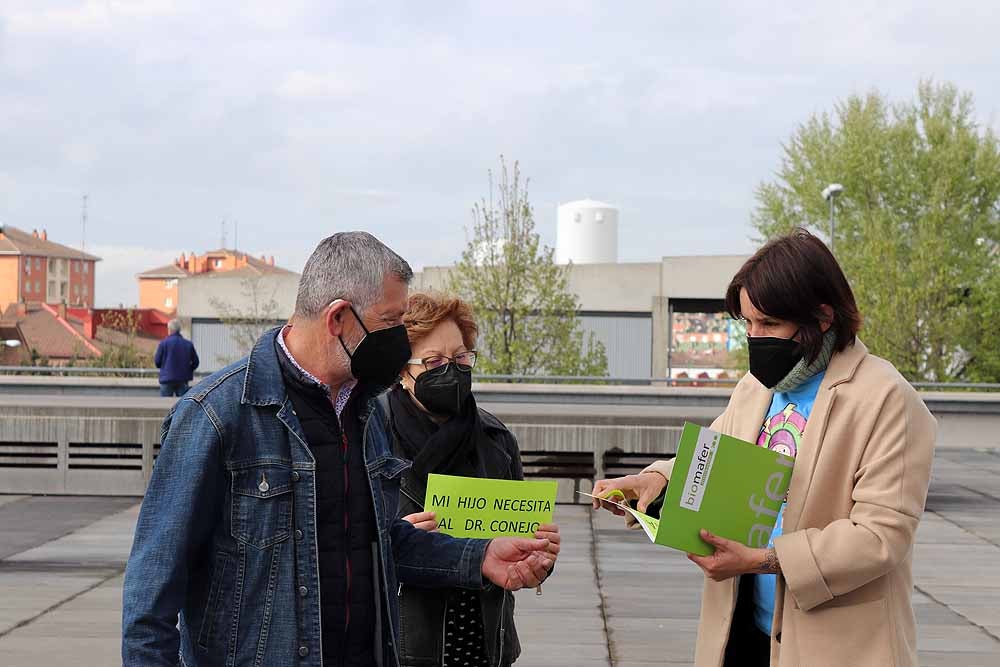
[[[212,250],[203,255],[193,252],[181,254],[173,264],[167,264],[140,273],[139,308],[154,308],[165,313],[175,314],[178,308],[178,284],[185,278],[209,273],[245,273],[248,275],[267,275],[272,273],[288,273],[274,265],[274,256],[261,256],[259,259],[238,250]]]

